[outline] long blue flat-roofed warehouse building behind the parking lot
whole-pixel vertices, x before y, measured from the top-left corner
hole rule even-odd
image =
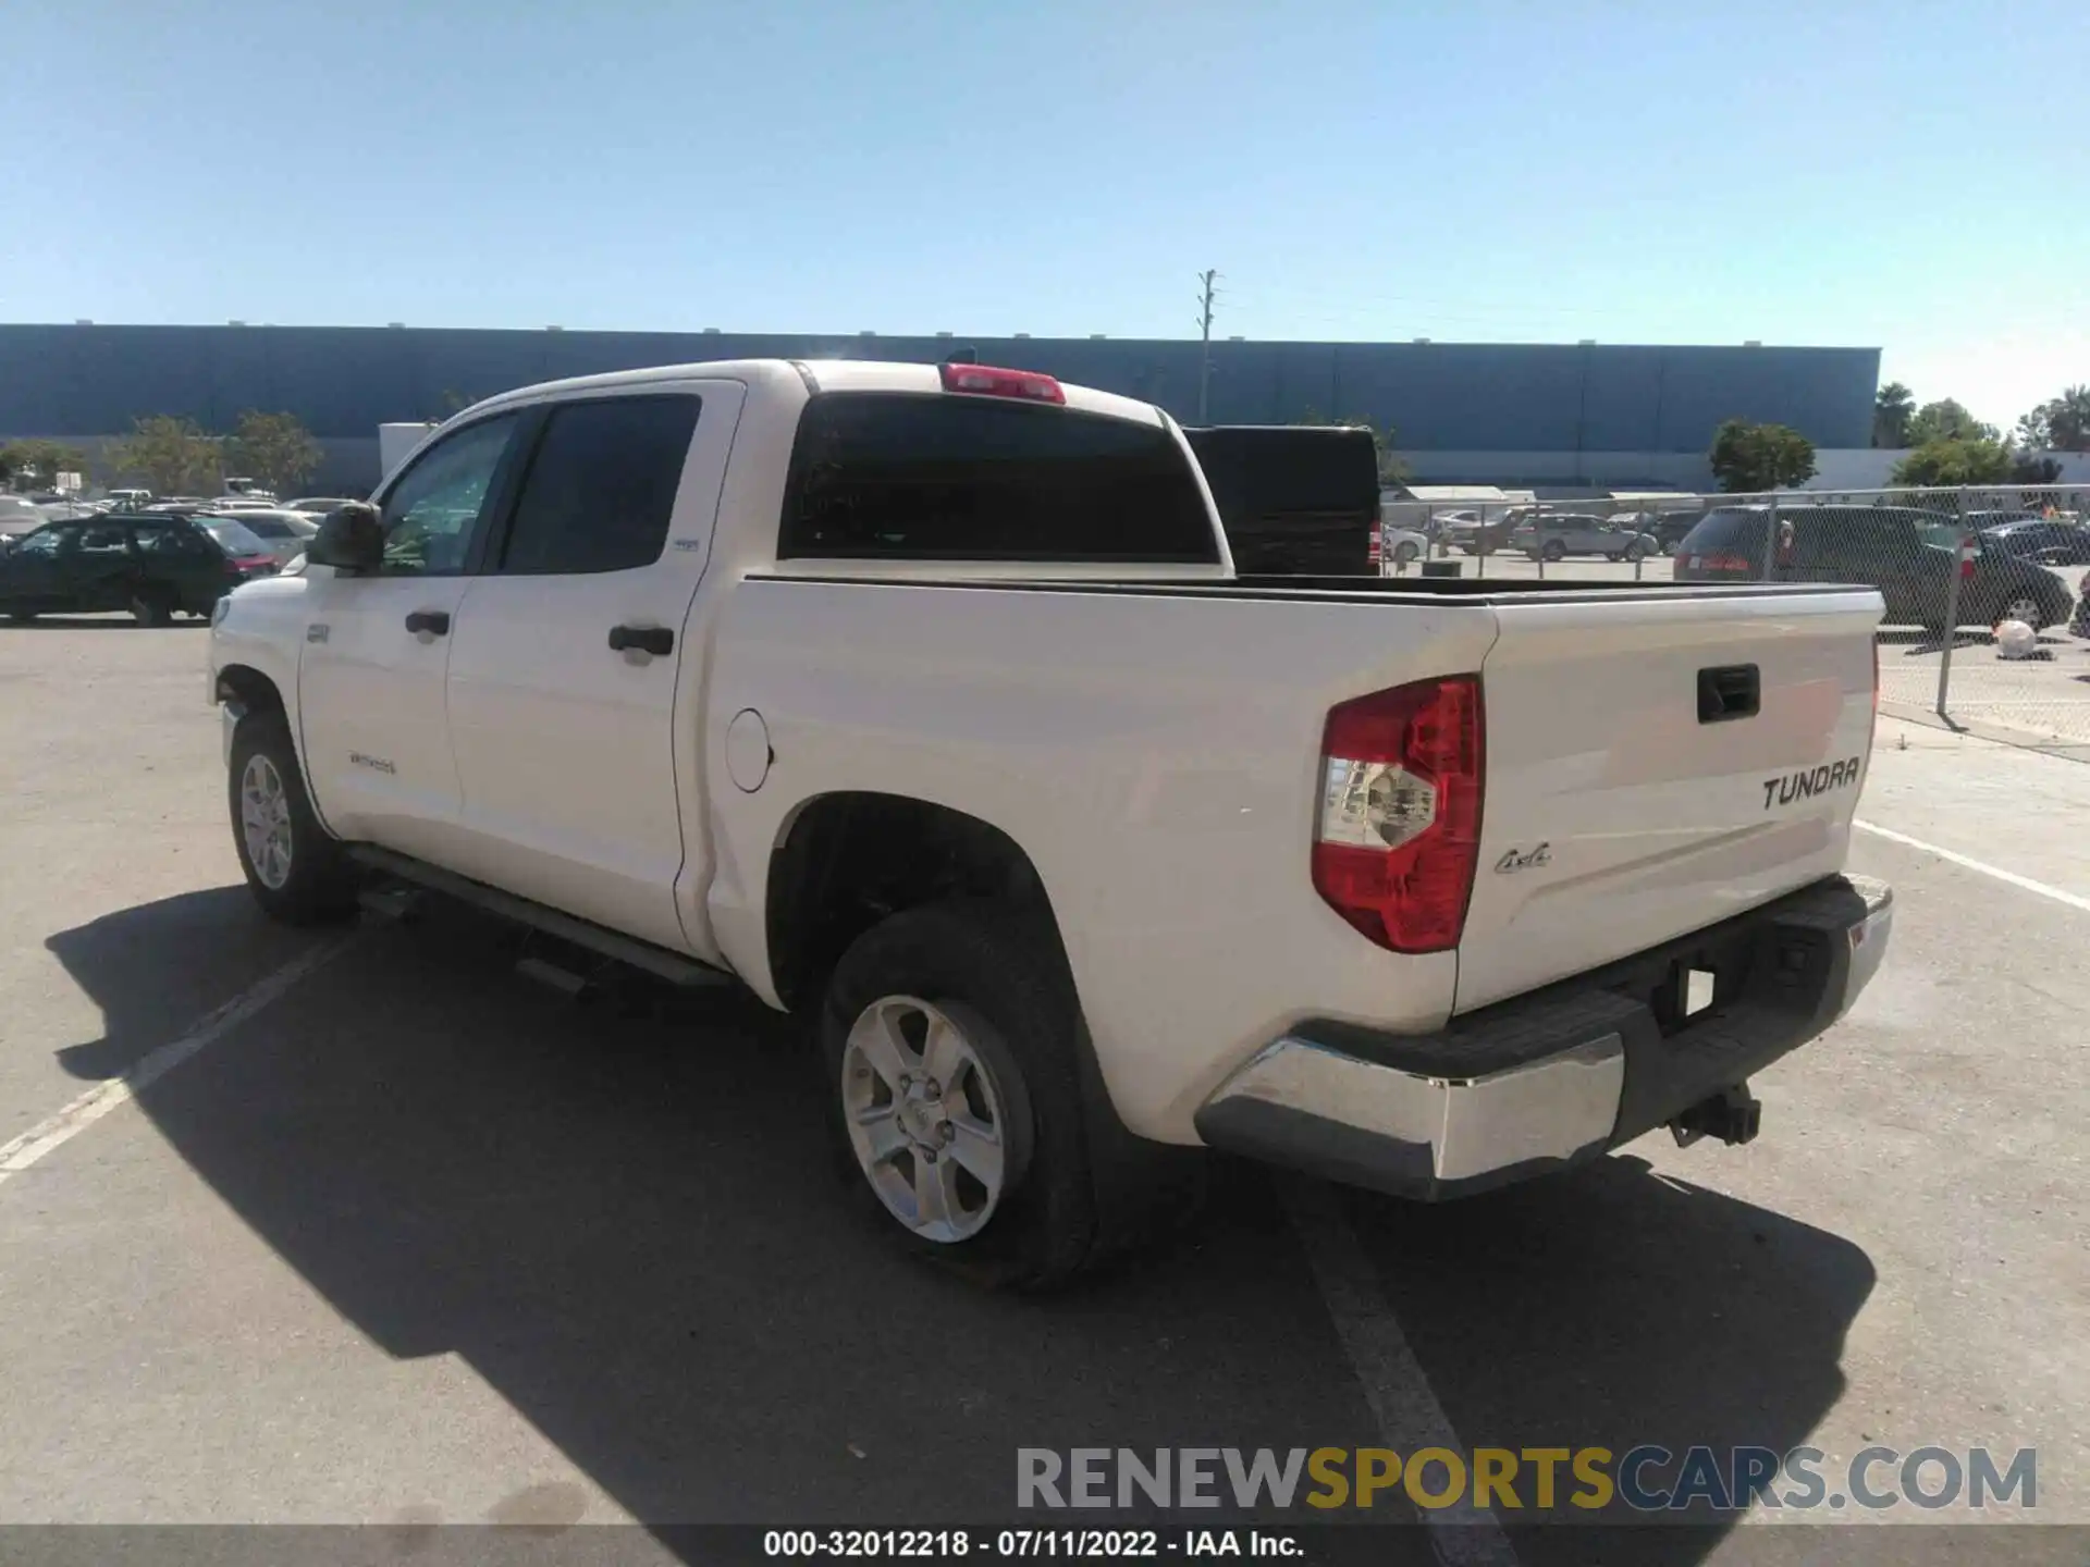
[[[510,387],[696,359],[909,359],[970,349],[1198,418],[1200,345],[1147,338],[533,332],[357,326],[0,326],[0,439],[94,451],[132,420],[230,430],[291,412],[320,437],[316,489],[378,478],[378,424],[433,420]],[[1864,447],[1879,349],[1496,343],[1212,345],[1214,424],[1361,418],[1396,430],[1419,481],[1513,487],[1710,483],[1726,418]]]

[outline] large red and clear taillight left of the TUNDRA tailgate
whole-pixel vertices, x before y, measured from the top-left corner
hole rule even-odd
[[[1396,685],[1327,715],[1313,886],[1379,946],[1459,944],[1480,857],[1480,677]]]

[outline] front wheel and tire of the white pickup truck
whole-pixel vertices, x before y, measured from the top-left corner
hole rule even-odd
[[[320,926],[355,913],[355,875],[320,825],[280,712],[249,712],[232,731],[232,844],[247,890],[270,919]]]

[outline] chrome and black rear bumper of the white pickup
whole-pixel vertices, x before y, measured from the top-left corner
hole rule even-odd
[[[1833,878],[1430,1036],[1302,1024],[1198,1112],[1212,1147],[1407,1197],[1559,1170],[1741,1084],[1850,1011],[1894,926],[1881,882]],[[1682,976],[1716,974],[1680,1015]]]

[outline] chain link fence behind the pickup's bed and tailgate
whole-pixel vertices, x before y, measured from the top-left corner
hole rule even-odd
[[[1889,712],[2090,756],[2090,485],[1381,510],[1388,575],[1877,587]]]

